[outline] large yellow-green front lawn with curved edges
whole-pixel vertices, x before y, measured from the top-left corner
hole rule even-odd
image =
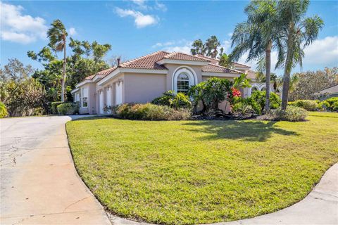
[[[68,122],[75,165],[113,214],[206,224],[274,212],[304,198],[338,162],[338,113],[307,122]]]

